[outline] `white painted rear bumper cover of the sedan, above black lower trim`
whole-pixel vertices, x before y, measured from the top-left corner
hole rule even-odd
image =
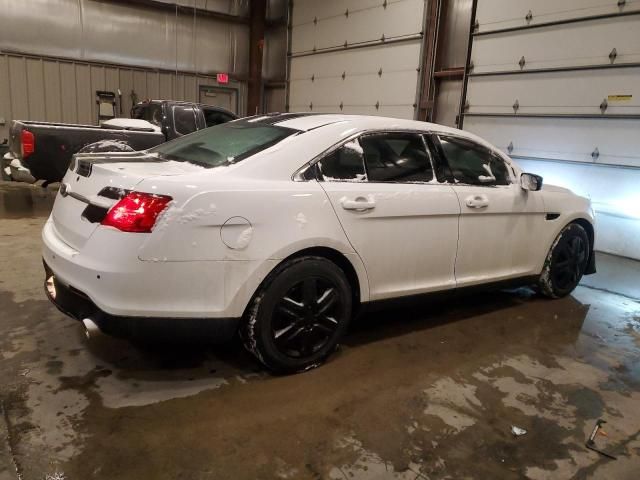
[[[55,211],[55,209],[54,209]],[[117,317],[239,318],[275,261],[141,260],[145,234],[97,227],[74,248],[50,219],[42,257],[58,281]]]

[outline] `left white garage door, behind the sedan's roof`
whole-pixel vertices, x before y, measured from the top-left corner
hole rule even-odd
[[[424,0],[294,0],[288,110],[414,118]]]

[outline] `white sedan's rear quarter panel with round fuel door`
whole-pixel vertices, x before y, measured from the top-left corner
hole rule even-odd
[[[210,182],[206,190],[189,185],[155,178],[136,187],[174,198],[138,251],[141,261],[224,264],[225,304],[230,312],[242,312],[282,260],[323,247],[348,259],[358,275],[359,298],[368,300],[364,265],[316,182],[229,179]],[[189,196],[193,190],[198,193]]]

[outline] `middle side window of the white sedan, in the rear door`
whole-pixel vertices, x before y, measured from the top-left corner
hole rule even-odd
[[[430,182],[433,167],[422,137],[376,133],[360,138],[369,182]]]

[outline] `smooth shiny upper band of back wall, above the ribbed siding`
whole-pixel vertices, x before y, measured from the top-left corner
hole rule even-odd
[[[0,0],[0,11],[4,51],[205,74],[248,72],[248,25],[195,11],[176,15],[95,0]]]

